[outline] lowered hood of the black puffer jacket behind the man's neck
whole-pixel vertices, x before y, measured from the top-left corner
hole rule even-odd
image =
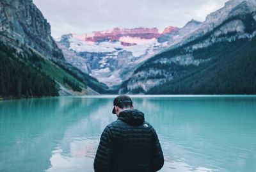
[[[144,113],[137,109],[128,109],[118,115],[118,120],[122,120],[129,125],[142,125],[145,121]]]

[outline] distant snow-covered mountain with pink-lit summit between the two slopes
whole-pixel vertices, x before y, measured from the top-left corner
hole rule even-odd
[[[157,28],[114,28],[91,34],[63,35],[57,41],[68,63],[99,79],[108,86],[121,84],[143,61],[168,46],[159,41],[163,36],[177,33],[169,26],[159,33]]]

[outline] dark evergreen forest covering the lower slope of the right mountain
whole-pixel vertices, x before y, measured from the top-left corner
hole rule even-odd
[[[154,87],[147,94],[256,94],[256,37],[215,43],[198,49],[195,58],[210,61],[184,68],[172,81]]]

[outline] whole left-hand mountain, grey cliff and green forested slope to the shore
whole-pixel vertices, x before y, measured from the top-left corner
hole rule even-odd
[[[88,95],[98,94],[91,88],[100,93],[106,88],[66,63],[51,26],[31,0],[0,1],[0,59],[0,97]]]

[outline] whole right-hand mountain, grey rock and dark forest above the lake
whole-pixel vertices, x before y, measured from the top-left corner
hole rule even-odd
[[[223,8],[209,14],[204,22],[190,29],[191,32],[186,32],[187,35],[179,38],[179,34],[170,33],[167,38],[159,38],[163,41],[169,40],[170,47],[136,68],[131,77],[123,82],[119,93],[221,93],[225,89],[223,93],[226,93],[228,84],[237,79],[243,80],[240,78],[241,74],[231,70],[232,65],[226,65],[235,63],[236,65],[233,65],[237,70],[243,66],[230,59],[241,61],[243,56],[241,58],[238,54],[243,54],[244,49],[248,50],[245,54],[253,54],[255,50],[252,48],[256,39],[255,4],[255,0],[228,1]],[[182,32],[182,29],[177,32]],[[237,54],[233,54],[234,51],[237,51]],[[244,60],[252,56],[244,55]],[[214,79],[221,78],[218,75],[224,70],[230,72],[225,74],[225,79],[220,79],[221,84],[225,86],[216,86]],[[237,76],[236,79],[230,80],[232,77],[228,75],[232,75],[231,72]],[[253,74],[249,73],[249,78],[251,75]],[[244,78],[248,79],[248,76]],[[209,83],[210,85],[206,86]],[[210,90],[212,86],[213,89]],[[237,88],[241,88],[240,91],[245,93],[247,90],[244,90],[243,86],[241,84],[241,87]],[[210,91],[202,88],[208,88]]]

